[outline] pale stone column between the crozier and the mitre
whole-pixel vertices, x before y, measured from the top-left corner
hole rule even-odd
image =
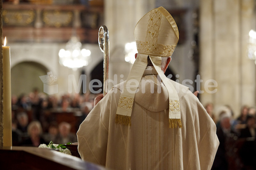
[[[137,22],[155,8],[155,3],[154,0],[105,0],[104,4],[110,40],[109,79],[113,80],[116,74],[116,84],[125,80],[131,69],[131,64],[125,62],[125,43],[135,41],[133,33]],[[121,74],[124,76],[120,77]],[[109,84],[109,89],[112,86]]]

